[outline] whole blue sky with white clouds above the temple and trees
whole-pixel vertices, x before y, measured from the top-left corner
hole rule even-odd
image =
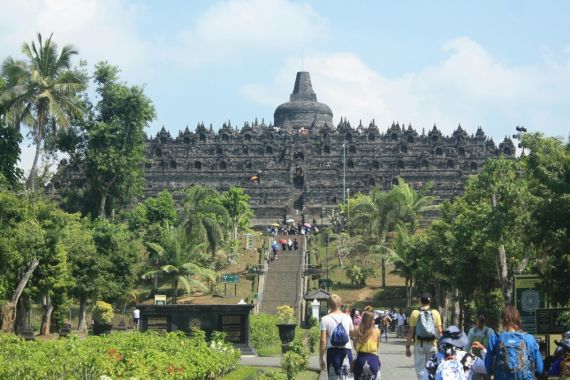
[[[36,32],[144,84],[172,134],[273,120],[296,71],[334,121],[570,131],[568,1],[0,0],[0,58]],[[301,53],[303,52],[303,53]],[[303,56],[303,59],[301,59]],[[24,146],[23,167],[30,162]]]

